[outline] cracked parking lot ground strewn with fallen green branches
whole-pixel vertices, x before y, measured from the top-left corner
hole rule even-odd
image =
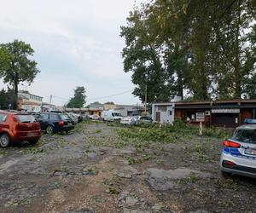
[[[224,178],[222,136],[84,122],[0,149],[1,212],[256,212],[256,183]]]

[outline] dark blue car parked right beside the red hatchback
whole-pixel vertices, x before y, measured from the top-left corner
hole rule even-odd
[[[55,132],[66,131],[67,133],[74,128],[74,122],[66,114],[42,112],[37,116],[41,130],[52,135]]]

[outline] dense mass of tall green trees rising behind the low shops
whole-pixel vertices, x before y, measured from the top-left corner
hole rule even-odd
[[[154,0],[121,27],[125,72],[144,101],[241,98],[255,71],[255,1]],[[248,88],[248,87],[247,87]]]

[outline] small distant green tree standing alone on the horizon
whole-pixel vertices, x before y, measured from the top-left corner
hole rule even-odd
[[[67,103],[68,108],[82,108],[84,107],[84,104],[86,103],[86,91],[84,86],[77,87],[74,89],[74,95],[73,98],[69,100]]]

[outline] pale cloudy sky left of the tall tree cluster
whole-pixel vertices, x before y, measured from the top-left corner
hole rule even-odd
[[[41,71],[27,89],[63,105],[76,86],[87,102],[136,104],[131,73],[123,71],[119,37],[129,11],[143,0],[0,0],[0,43],[31,43]],[[0,88],[3,82],[0,79]],[[20,89],[26,86],[20,85]],[[98,99],[108,95],[113,97]]]

